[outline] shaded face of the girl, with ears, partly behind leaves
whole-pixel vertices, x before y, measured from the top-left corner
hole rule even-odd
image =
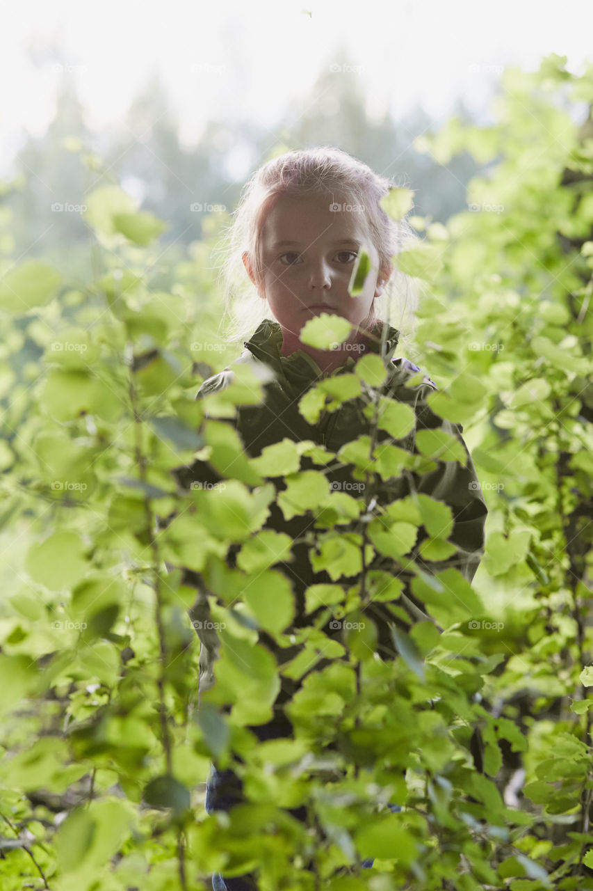
[[[348,283],[361,244],[369,252],[371,271],[361,295],[353,298]],[[261,257],[260,280],[247,253],[243,263],[289,340],[298,336],[308,319],[322,312],[341,315],[362,328],[370,326],[373,301],[391,274],[391,268],[383,270],[378,283],[378,251],[366,233],[364,208],[348,204],[339,193],[282,194],[270,199]]]

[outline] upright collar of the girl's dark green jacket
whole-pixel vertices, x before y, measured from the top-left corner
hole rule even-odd
[[[370,353],[380,353],[381,334],[384,322],[378,321],[371,329],[371,334],[376,338],[368,341],[368,351]],[[386,344],[385,344],[385,360],[391,362],[394,355],[395,347],[400,338],[400,332],[392,325],[387,325]],[[329,377],[333,372],[322,372],[319,365],[312,356],[305,353],[303,349],[297,349],[289,356],[282,356],[280,349],[282,348],[282,329],[280,323],[272,321],[272,319],[264,319],[260,323],[256,331],[248,340],[244,341],[245,347],[249,352],[259,359],[272,366],[272,369],[280,374],[281,377],[291,381],[296,385],[306,385],[313,380]],[[348,356],[344,365],[341,365],[337,372],[352,371],[353,366],[357,363],[360,355]]]

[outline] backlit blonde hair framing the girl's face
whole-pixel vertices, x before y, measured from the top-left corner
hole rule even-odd
[[[242,260],[247,251],[259,279],[261,233],[272,195],[342,192],[349,203],[362,205],[368,234],[378,250],[379,268],[384,270],[392,267],[393,257],[420,241],[407,217],[394,221],[379,205],[391,188],[399,187],[391,177],[378,176],[347,151],[331,146],[287,151],[258,168],[243,187],[232,223],[223,230],[221,247],[215,250],[222,257],[217,283],[223,293],[223,339],[228,343],[244,341],[265,318],[275,319],[268,301],[259,297]],[[375,316],[400,331],[400,343],[413,336],[420,287],[418,279],[393,267],[383,293],[375,298]]]

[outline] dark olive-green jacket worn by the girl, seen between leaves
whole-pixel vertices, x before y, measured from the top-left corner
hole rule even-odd
[[[380,338],[381,331],[382,323],[378,323],[373,333]],[[397,441],[394,441],[393,437],[385,430],[378,430],[378,441],[394,442],[395,445],[414,454],[418,453],[415,445],[418,430],[441,428],[459,439],[467,454],[467,466],[464,467],[459,462],[437,461],[435,462],[437,464],[436,469],[429,470],[424,474],[406,471],[406,473],[400,476],[383,481],[383,484],[379,487],[377,501],[385,506],[396,499],[409,495],[410,486],[413,486],[417,493],[426,493],[448,504],[451,507],[454,520],[449,541],[456,546],[456,552],[449,559],[431,561],[429,564],[425,564],[424,568],[428,572],[436,573],[443,568],[455,567],[459,569],[459,572],[467,581],[471,582],[483,556],[484,523],[487,509],[483,500],[482,490],[477,481],[474,464],[461,436],[463,428],[459,424],[452,424],[450,421],[443,421],[441,418],[438,418],[430,410],[429,406],[426,405],[427,394],[437,389],[433,381],[424,375],[420,383],[407,386],[410,379],[417,375],[419,369],[408,359],[402,357],[394,358],[393,354],[398,338],[399,332],[388,326],[384,362],[389,368],[389,377],[387,389],[384,390],[384,393],[412,406],[416,424],[407,437]],[[330,372],[321,372],[313,358],[302,350],[298,350],[290,356],[281,356],[281,344],[282,333],[280,324],[265,319],[258,326],[252,337],[245,342],[246,349],[235,360],[235,364],[248,363],[253,367],[258,365],[261,367],[260,364],[263,363],[272,369],[273,372],[272,380],[264,384],[264,402],[259,405],[238,405],[237,416],[229,421],[240,434],[245,452],[250,457],[256,457],[265,446],[279,442],[285,437],[294,441],[310,439],[331,452],[337,452],[346,443],[352,442],[364,434],[369,434],[370,422],[367,421],[362,413],[364,402],[361,397],[346,400],[336,411],[322,411],[320,420],[316,424],[312,425],[305,421],[298,411],[297,404],[299,399],[313,384],[329,377]],[[378,353],[378,349],[379,345],[370,341],[370,351]],[[348,357],[343,366],[331,373],[339,375],[352,372],[358,358],[358,355]],[[223,372],[208,378],[199,388],[196,398],[223,390],[232,382],[233,376],[232,368],[227,367]],[[319,465],[313,465],[311,459],[303,455],[301,457],[301,470],[309,470],[313,469],[313,467],[320,470]],[[339,483],[340,486],[347,489],[347,486],[352,486],[356,482],[352,471],[352,464],[344,464],[336,460],[328,465],[324,473],[329,479],[330,485]],[[194,480],[212,483],[220,479],[220,476],[211,465],[203,461],[196,461],[190,467],[176,469],[175,476],[183,488],[189,487]],[[278,491],[285,487],[285,483],[281,478],[274,478],[273,482]],[[355,487],[353,495],[357,496]],[[305,515],[305,517],[294,517],[286,520],[278,505],[272,502],[270,505],[270,516],[266,520],[264,527],[285,532],[290,535],[294,542],[296,538],[300,538],[306,532],[311,533],[313,531],[313,516],[310,514],[309,516]],[[418,536],[416,547],[423,540],[423,537],[427,537],[426,532],[424,536]],[[321,573],[313,572],[308,556],[309,547],[310,545],[305,544],[305,542],[294,544],[292,560],[274,564],[274,569],[280,569],[288,576],[295,594],[296,617],[293,622],[295,629],[304,625],[310,625],[317,615],[317,612],[314,612],[305,616],[305,589],[311,584],[332,581],[325,571]],[[230,565],[234,565],[235,553],[236,551],[233,551],[233,548],[231,548],[227,555]],[[414,554],[417,556],[416,548],[414,549]],[[422,565],[422,561],[418,559],[418,556],[417,560]],[[372,568],[387,569],[406,583],[401,597],[396,602],[399,610],[402,607],[405,608],[411,622],[426,619],[432,621],[422,609],[423,604],[410,591],[410,574],[406,574],[399,565],[394,564],[393,561],[387,558],[379,559],[377,563],[373,563]],[[216,658],[218,658],[220,641],[215,630],[209,627],[213,623],[208,623],[210,611],[207,593],[204,584],[201,584],[200,574],[185,569],[184,581],[185,584],[195,585],[199,591],[196,602],[189,612],[200,641],[199,692],[201,693],[215,683],[214,663]],[[339,581],[341,583],[353,584],[355,578],[345,579],[343,576]],[[395,609],[395,613],[397,611],[398,609]],[[390,609],[389,601],[371,602],[365,608],[365,614],[373,619],[377,627],[379,655],[382,658],[395,658],[397,653],[394,650],[389,623],[399,624],[403,628],[407,625],[402,623],[401,618],[394,615],[394,610]],[[332,635],[327,627],[324,627],[323,630],[326,634],[329,633],[329,636],[336,636],[335,634]],[[263,630],[260,630],[259,638],[260,642],[263,642],[264,645],[272,650],[279,663],[288,662],[289,659],[294,658],[300,649],[300,646],[296,645],[295,648],[288,647],[279,650],[274,645],[275,642],[272,637]],[[327,664],[327,660],[321,663],[318,662],[314,667],[319,668],[325,664]],[[277,711],[281,711],[282,704],[290,698],[299,685],[300,683],[282,678],[282,691],[277,699]]]

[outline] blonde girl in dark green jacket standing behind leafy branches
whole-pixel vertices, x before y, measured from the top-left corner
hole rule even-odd
[[[420,429],[440,428],[457,437],[467,454],[466,466],[460,462],[436,461],[436,469],[423,474],[404,470],[400,476],[379,478],[372,509],[381,511],[386,505],[412,492],[431,495],[451,507],[453,528],[449,541],[455,553],[447,560],[426,562],[418,555],[423,540],[422,527],[412,555],[427,572],[443,568],[459,569],[469,582],[475,575],[483,555],[483,527],[486,506],[474,464],[461,437],[458,424],[442,421],[426,404],[428,393],[435,384],[424,375],[420,383],[409,386],[417,377],[418,367],[408,359],[394,357],[399,331],[389,324],[387,298],[394,290],[413,287],[392,266],[392,257],[402,250],[406,240],[413,237],[405,221],[394,222],[380,207],[392,183],[375,174],[367,165],[345,151],[316,148],[288,151],[259,168],[248,182],[246,192],[236,212],[231,229],[231,258],[226,267],[229,282],[236,274],[238,260],[248,288],[252,288],[235,312],[235,335],[246,332],[251,315],[251,337],[244,341],[245,350],[234,364],[248,363],[263,378],[264,400],[258,405],[237,406],[232,418],[246,453],[251,457],[261,454],[265,446],[284,438],[294,441],[313,440],[332,453],[346,443],[370,433],[370,421],[363,413],[365,402],[356,397],[346,400],[337,411],[322,411],[320,420],[310,424],[298,410],[298,402],[315,383],[330,375],[352,372],[358,359],[365,353],[382,356],[388,370],[383,393],[394,400],[410,405],[415,413],[415,426],[398,445],[417,454],[416,434]],[[360,296],[353,298],[348,291],[357,253],[364,247],[370,255],[371,269]],[[413,300],[409,301],[413,303]],[[316,349],[303,343],[299,334],[305,323],[316,315],[338,315],[352,323],[353,329],[344,343],[335,349]],[[381,319],[380,316],[384,318]],[[255,319],[255,322],[254,322]],[[256,324],[255,331],[253,330]],[[204,381],[197,398],[220,392],[232,382],[234,372],[228,367]],[[206,406],[207,407],[207,406]],[[378,441],[391,439],[385,430],[378,430]],[[301,470],[320,470],[303,455]],[[363,498],[361,481],[353,477],[353,465],[329,462],[323,472],[330,488],[343,490]],[[187,486],[191,481],[214,483],[221,477],[207,462],[197,461],[191,468],[179,469],[178,479]],[[281,478],[272,479],[280,492],[285,488]],[[296,603],[296,614],[291,629],[312,625],[321,608],[305,615],[305,591],[312,584],[335,581],[327,572],[314,572],[310,560],[310,536],[315,532],[311,511],[304,516],[285,519],[278,505],[272,502],[264,527],[287,533],[293,541],[291,560],[274,564],[290,581]],[[307,535],[308,534],[308,535]],[[309,537],[308,537],[309,536]],[[426,534],[424,535],[426,538]],[[227,555],[230,565],[233,548]],[[379,558],[371,568],[387,569],[405,585],[397,603],[407,610],[410,622],[394,615],[388,601],[370,601],[365,615],[377,628],[377,652],[382,659],[397,656],[390,625],[406,629],[410,623],[426,621],[423,604],[410,590],[410,574],[387,558]],[[212,623],[208,625],[209,607],[203,579],[199,573],[184,570],[186,584],[195,584],[199,595],[190,610],[200,639],[199,695],[215,683],[214,666],[219,656],[219,639]],[[340,584],[354,584],[356,577],[340,578]],[[339,631],[332,632],[337,622],[329,623],[324,631],[339,639]],[[298,644],[280,650],[273,638],[259,631],[259,641],[272,650],[279,665],[288,662],[300,650]],[[322,659],[311,671],[329,664]],[[249,730],[258,739],[290,736],[292,724],[284,711],[285,704],[298,690],[298,682],[281,677],[280,694],[274,704],[274,718],[265,725]],[[241,783],[231,770],[217,771],[213,767],[207,784],[206,806],[209,813],[228,809],[241,800]],[[399,810],[398,805],[390,805]],[[295,816],[305,819],[305,808],[296,808]],[[372,861],[363,862],[370,866]],[[256,887],[253,876],[223,879],[216,875],[215,889]]]

